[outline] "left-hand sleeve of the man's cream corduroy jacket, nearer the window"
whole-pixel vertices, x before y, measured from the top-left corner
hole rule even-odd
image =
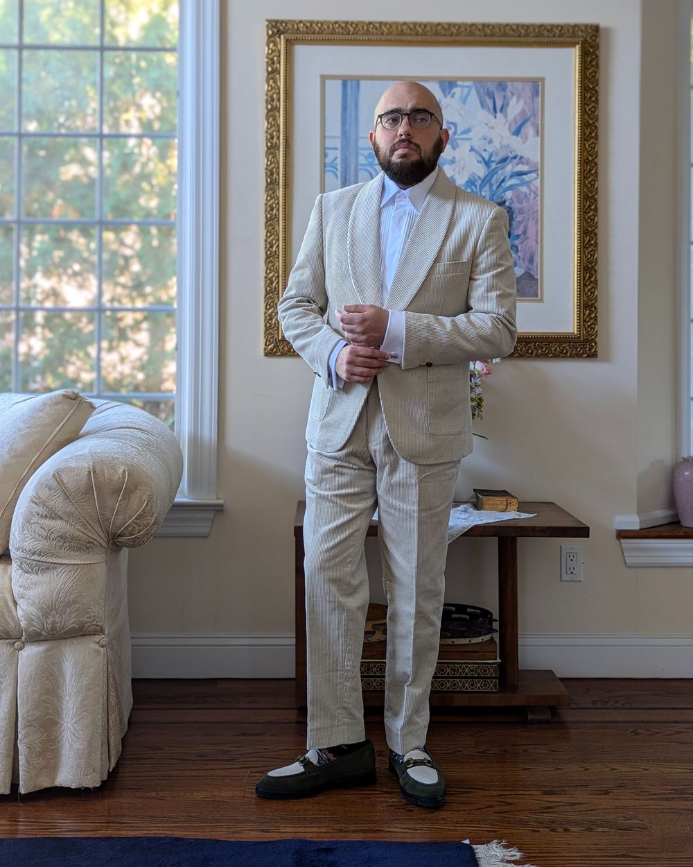
[[[322,200],[322,195],[315,200],[278,314],[288,342],[329,387],[329,358],[342,336],[326,322],[329,299],[325,285]]]

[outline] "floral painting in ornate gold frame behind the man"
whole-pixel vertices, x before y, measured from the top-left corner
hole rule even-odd
[[[374,178],[373,108],[394,81],[437,96],[439,165],[508,212],[515,356],[597,355],[596,25],[269,21],[264,352],[315,196]]]

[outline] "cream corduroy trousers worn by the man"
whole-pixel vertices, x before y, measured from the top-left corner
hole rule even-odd
[[[370,590],[364,543],[378,507],[387,600],[385,733],[423,746],[444,601],[447,528],[459,461],[411,464],[392,447],[373,381],[338,452],[308,445],[308,749],[363,740],[360,657]]]

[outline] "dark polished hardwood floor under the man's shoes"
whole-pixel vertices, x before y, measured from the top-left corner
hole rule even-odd
[[[465,709],[433,721],[448,801],[429,811],[399,798],[379,711],[376,786],[268,801],[259,774],[303,752],[294,681],[135,681],[107,782],[0,796],[0,837],[504,838],[537,867],[693,867],[693,681],[564,683],[572,707],[547,725]]]

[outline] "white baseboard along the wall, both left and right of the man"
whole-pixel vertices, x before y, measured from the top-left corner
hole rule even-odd
[[[133,677],[294,677],[294,636],[133,636]],[[693,636],[520,636],[521,668],[559,677],[691,677]]]

